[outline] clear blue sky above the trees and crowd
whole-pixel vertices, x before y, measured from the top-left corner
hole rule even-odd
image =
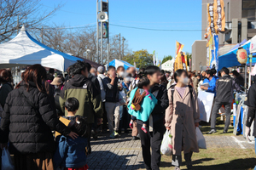
[[[48,25],[84,26],[96,25],[96,0],[42,0],[45,10],[57,4],[63,6]],[[184,44],[183,51],[191,53],[195,40],[201,39],[201,0],[109,0],[110,24],[160,30],[189,31],[147,31],[110,26],[110,34],[121,33],[132,51],[155,50],[159,59],[175,54],[175,42]]]

